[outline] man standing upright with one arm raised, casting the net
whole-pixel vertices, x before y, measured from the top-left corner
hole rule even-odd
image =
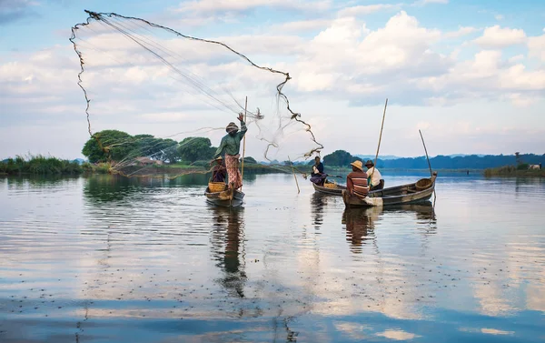
[[[227,167],[227,176],[229,177],[229,185],[233,189],[238,189],[243,187],[243,177],[238,168],[239,158],[240,158],[240,149],[241,149],[241,140],[248,130],[246,128],[246,123],[243,121],[243,114],[239,114],[238,120],[241,122],[241,130],[233,122],[229,123],[225,127],[227,135],[223,136],[222,142],[218,149],[216,150],[214,157],[220,156],[225,153],[225,166]]]

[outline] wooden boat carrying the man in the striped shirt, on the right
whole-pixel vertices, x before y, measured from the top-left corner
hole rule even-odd
[[[429,178],[422,178],[413,184],[384,188],[369,192],[367,197],[351,196],[342,190],[342,200],[346,207],[383,207],[401,204],[414,204],[428,201],[435,190],[437,172]]]

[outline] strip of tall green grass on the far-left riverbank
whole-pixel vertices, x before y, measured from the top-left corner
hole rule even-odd
[[[74,161],[43,155],[16,156],[0,162],[0,174],[76,175],[83,173],[84,166]]]

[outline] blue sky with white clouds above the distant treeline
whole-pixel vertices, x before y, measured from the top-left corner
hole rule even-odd
[[[79,60],[68,38],[71,27],[86,20],[84,9],[220,41],[259,66],[288,72],[284,94],[311,124],[322,155],[337,149],[374,154],[386,98],[381,155],[423,155],[419,129],[431,156],[545,153],[540,0],[0,0],[0,158],[82,156],[89,132],[77,86]],[[80,43],[91,69],[84,85],[91,94],[92,132],[182,133],[174,136],[182,140],[199,128],[236,120],[234,113],[196,103],[202,97],[189,101],[182,84],[166,82],[172,76],[134,47],[108,40],[100,30],[85,34]],[[93,46],[108,52],[94,54]],[[191,70],[197,58],[207,67],[213,57],[227,63],[220,58],[224,51],[176,51],[191,61],[185,65]],[[112,56],[130,66],[114,68]],[[259,106],[271,117],[271,104],[258,93],[273,80],[261,71],[215,66],[214,76],[206,76],[207,69],[199,74],[208,86],[229,84],[239,101],[245,94],[250,108]],[[308,133],[297,128],[279,138],[274,156],[295,159],[309,146]],[[217,146],[223,133],[206,136]],[[258,136],[250,123],[246,156],[262,159]]]

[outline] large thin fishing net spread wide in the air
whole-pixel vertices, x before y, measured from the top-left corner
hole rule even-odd
[[[248,126],[245,156],[282,165],[322,149],[283,93],[290,76],[280,71],[282,62],[261,55],[269,66],[260,66],[219,41],[140,18],[85,12],[89,17],[74,25],[70,40],[91,136],[84,155],[92,162],[107,160],[125,176],[142,176],[144,167],[161,162],[180,165],[177,175],[203,172],[225,126],[240,126],[241,113]]]

